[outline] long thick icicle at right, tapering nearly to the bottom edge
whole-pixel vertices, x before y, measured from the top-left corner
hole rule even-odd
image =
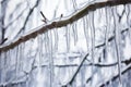
[[[114,10],[114,21],[115,21],[115,46],[116,46],[116,52],[117,52],[117,61],[118,61],[118,73],[119,73],[119,82],[122,85],[122,79],[121,79],[121,54],[120,54],[120,34],[121,34],[121,28],[119,27],[119,23],[116,16],[117,8]]]

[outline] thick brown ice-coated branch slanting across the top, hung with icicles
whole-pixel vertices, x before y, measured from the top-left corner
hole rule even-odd
[[[76,11],[75,13],[69,16],[62,17],[61,21],[59,21],[58,18],[53,20],[52,22],[49,22],[46,25],[41,25],[40,27],[37,27],[35,30],[32,30],[28,34],[25,34],[7,45],[0,46],[0,51],[7,51],[9,49],[12,49],[15,46],[20,45],[21,42],[25,42],[31,38],[35,38],[37,35],[44,34],[55,27],[62,27],[68,24],[71,24],[80,20],[81,17],[85,16],[86,14],[88,14],[88,12],[92,12],[92,11],[95,11],[97,9],[105,8],[105,7],[115,7],[115,5],[128,4],[128,3],[131,3],[131,0],[117,0],[117,1],[106,0],[103,2],[90,3],[85,5],[84,8],[80,9],[79,11]]]

